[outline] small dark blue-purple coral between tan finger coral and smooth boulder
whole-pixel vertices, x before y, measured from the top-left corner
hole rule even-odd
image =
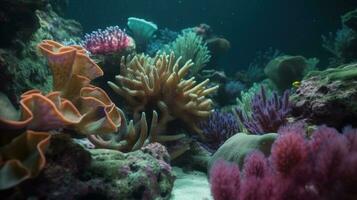
[[[215,152],[228,138],[239,132],[236,117],[232,113],[219,111],[214,111],[198,126],[205,136],[205,141],[201,144],[210,152]]]

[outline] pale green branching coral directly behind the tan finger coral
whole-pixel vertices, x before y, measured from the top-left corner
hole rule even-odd
[[[175,57],[181,57],[179,65],[192,60],[191,75],[197,74],[209,62],[211,55],[202,37],[193,31],[184,31],[178,38],[165,46],[164,51],[174,52]]]

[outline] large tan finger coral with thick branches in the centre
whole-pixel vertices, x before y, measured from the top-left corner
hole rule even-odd
[[[169,115],[167,122],[179,119],[201,134],[197,122],[213,112],[212,101],[206,96],[218,86],[207,88],[208,79],[197,85],[194,77],[184,79],[193,63],[189,60],[180,67],[179,62],[180,58],[176,60],[173,53],[155,58],[145,55],[123,58],[120,75],[116,76],[118,85],[110,81],[108,84],[127,100],[134,119],[142,111],[165,108]]]

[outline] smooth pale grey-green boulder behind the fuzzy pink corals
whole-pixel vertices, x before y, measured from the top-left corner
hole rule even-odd
[[[269,156],[271,146],[276,138],[276,133],[264,135],[237,133],[229,138],[216,153],[213,154],[208,170],[210,170],[215,161],[220,159],[237,163],[240,168],[242,168],[245,156],[254,150],[259,150],[266,156]]]

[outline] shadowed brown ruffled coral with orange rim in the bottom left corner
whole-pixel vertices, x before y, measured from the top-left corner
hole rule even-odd
[[[50,137],[46,132],[27,131],[0,148],[0,190],[39,174],[46,164]]]

